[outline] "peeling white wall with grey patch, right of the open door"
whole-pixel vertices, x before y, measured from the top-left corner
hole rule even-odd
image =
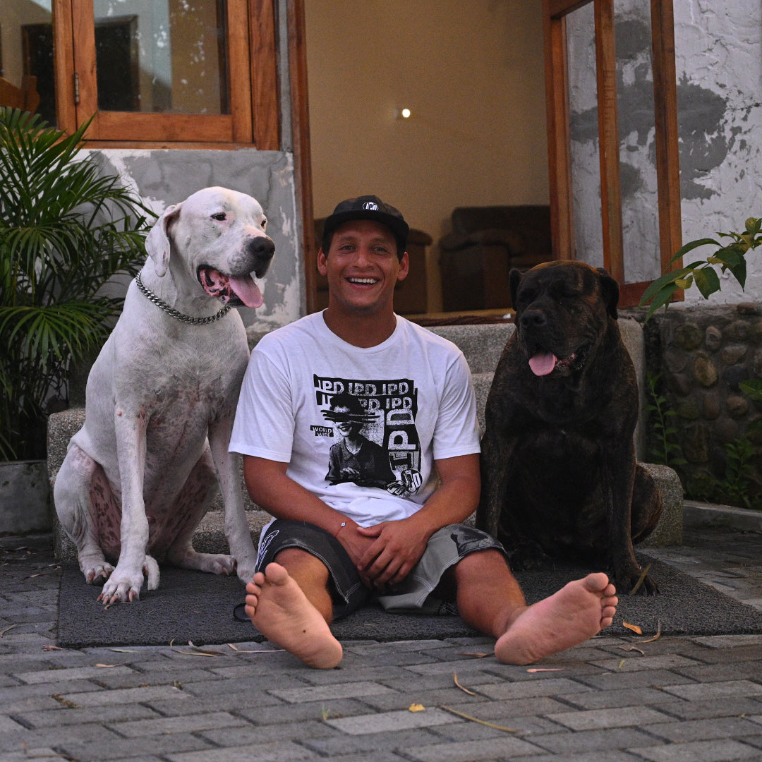
[[[762,3],[680,0],[674,19],[687,242],[742,231],[748,217],[762,217]],[[710,251],[692,253],[698,259]],[[710,301],[762,301],[760,249],[748,265],[745,292],[726,274]],[[706,301],[693,287],[685,303]]]

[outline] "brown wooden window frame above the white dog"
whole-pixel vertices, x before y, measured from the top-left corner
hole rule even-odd
[[[72,131],[94,115],[94,147],[280,149],[274,0],[227,0],[226,13],[230,114],[99,111],[93,2],[53,0],[59,126]]]

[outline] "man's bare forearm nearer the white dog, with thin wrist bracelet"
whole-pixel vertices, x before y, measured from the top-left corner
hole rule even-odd
[[[308,521],[322,527],[338,539],[357,565],[373,540],[361,536],[353,520],[291,479],[287,469],[288,463],[243,456],[244,479],[251,499],[276,518]]]

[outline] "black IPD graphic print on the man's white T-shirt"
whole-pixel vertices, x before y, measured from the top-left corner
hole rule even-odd
[[[410,379],[366,381],[312,376],[324,418],[316,437],[335,437],[325,480],[412,495],[421,486],[415,427],[418,390]]]

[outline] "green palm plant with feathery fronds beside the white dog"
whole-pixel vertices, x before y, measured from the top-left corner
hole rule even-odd
[[[0,459],[44,456],[50,400],[120,310],[104,283],[145,258],[152,212],[78,155],[87,126],[0,108]]]

